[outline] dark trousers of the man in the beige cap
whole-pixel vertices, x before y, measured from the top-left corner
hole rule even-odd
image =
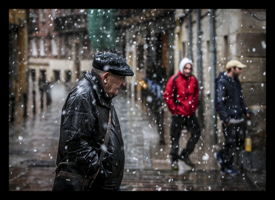
[[[229,124],[228,127],[222,124],[222,128],[225,142],[219,154],[222,157],[225,168],[232,167],[237,147],[242,146],[245,141],[245,122]]]

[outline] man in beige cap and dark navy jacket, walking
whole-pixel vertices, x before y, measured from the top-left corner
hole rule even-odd
[[[244,104],[242,88],[238,76],[246,65],[238,60],[226,64],[227,71],[216,78],[215,108],[222,121],[225,142],[215,154],[222,173],[238,175],[233,169],[233,158],[236,149],[244,144],[245,122],[243,115],[250,118],[250,111]]]

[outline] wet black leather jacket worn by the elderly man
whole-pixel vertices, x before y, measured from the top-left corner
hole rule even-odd
[[[111,109],[112,123],[107,152],[99,166]],[[60,162],[73,162],[93,176],[96,187],[116,190],[122,181],[125,155],[119,120],[112,99],[103,88],[99,76],[86,73],[70,91],[62,108],[59,151]]]

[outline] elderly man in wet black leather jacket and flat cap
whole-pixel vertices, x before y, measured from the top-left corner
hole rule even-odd
[[[82,167],[93,180],[90,191],[120,191],[125,155],[112,98],[125,85],[126,76],[134,72],[115,53],[96,54],[92,65],[91,72],[71,89],[62,108],[57,166],[70,162]],[[109,115],[109,140],[103,146]],[[99,162],[101,151],[105,155]]]

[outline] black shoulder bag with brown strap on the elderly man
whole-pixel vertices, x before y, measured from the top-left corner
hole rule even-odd
[[[109,122],[103,143],[104,146],[107,146],[109,140],[110,126],[111,110],[109,112]],[[102,162],[104,154],[105,151],[102,149],[99,157],[99,165]],[[82,167],[70,162],[60,162],[53,173],[56,173],[53,182],[53,191],[87,191],[94,182],[93,177],[86,177],[85,170]]]

